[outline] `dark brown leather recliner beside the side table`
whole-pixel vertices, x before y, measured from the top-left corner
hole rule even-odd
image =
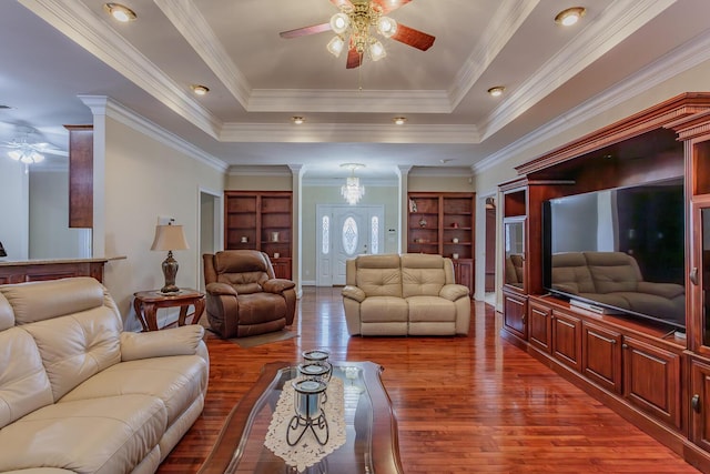
[[[268,255],[256,250],[205,253],[207,321],[221,337],[244,337],[290,326],[295,283],[274,278]]]

